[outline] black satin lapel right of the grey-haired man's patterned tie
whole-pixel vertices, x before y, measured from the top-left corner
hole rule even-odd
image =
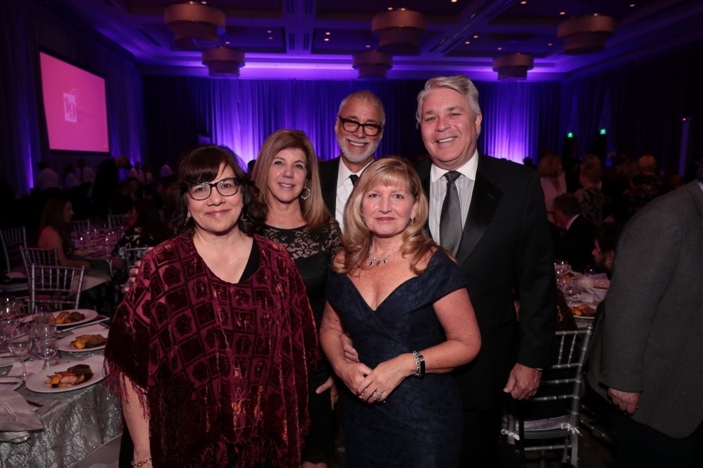
[[[468,207],[468,217],[466,218],[466,223],[464,223],[463,236],[461,236],[459,251],[456,252],[456,263],[459,266],[471,255],[474,247],[478,244],[486,228],[488,228],[488,224],[493,219],[502,196],[502,190],[490,183],[481,174],[480,169],[479,161],[476,182],[473,186],[473,195],[471,195],[471,206]]]

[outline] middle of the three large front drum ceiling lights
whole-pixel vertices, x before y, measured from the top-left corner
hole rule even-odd
[[[424,15],[418,11],[384,11],[371,18],[371,31],[378,36],[381,50],[395,55],[415,55],[420,51],[420,35],[427,30]]]

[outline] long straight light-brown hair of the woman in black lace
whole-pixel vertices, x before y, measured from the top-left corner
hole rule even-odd
[[[320,174],[317,172],[317,156],[315,156],[313,143],[310,142],[305,132],[300,130],[277,130],[264,140],[252,172],[254,185],[261,190],[261,202],[266,205],[268,210],[269,196],[271,195],[269,190],[269,169],[271,169],[271,164],[273,164],[276,154],[279,154],[283,149],[300,149],[305,154],[305,169],[308,172],[307,176],[305,176],[305,186],[310,190],[310,196],[305,200],[302,197],[298,197],[300,211],[308,224],[305,227],[306,230],[316,231],[321,229],[330,222],[332,215],[327,211],[325,201],[322,200]],[[305,191],[304,188],[303,191]]]

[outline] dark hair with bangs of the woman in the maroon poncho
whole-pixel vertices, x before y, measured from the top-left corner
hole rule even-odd
[[[264,224],[266,207],[259,202],[259,189],[237,163],[235,153],[225,146],[208,144],[186,150],[179,157],[173,191],[176,209],[171,217],[174,232],[182,233],[193,227],[193,221],[188,218],[188,186],[192,183],[212,181],[218,176],[223,164],[234,171],[242,194],[242,216],[237,222],[239,229],[251,236]]]

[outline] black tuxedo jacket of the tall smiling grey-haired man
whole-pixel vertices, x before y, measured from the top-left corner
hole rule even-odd
[[[539,176],[510,161],[478,158],[456,253],[481,333],[478,357],[454,371],[465,409],[497,404],[516,361],[549,367],[556,322],[552,244]],[[417,166],[428,197],[431,167],[429,160]]]

